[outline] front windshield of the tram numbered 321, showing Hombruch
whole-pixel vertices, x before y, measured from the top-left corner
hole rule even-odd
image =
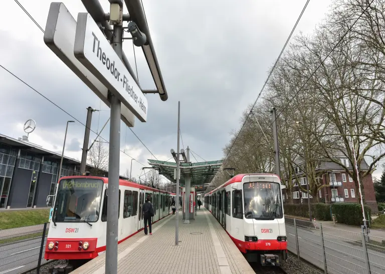
[[[55,202],[54,221],[96,222],[99,218],[102,189],[102,180],[61,180]]]

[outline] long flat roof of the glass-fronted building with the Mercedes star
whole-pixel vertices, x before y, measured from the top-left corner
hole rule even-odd
[[[23,149],[23,150],[27,150],[27,151],[30,151],[30,152],[33,152],[33,153],[37,153],[37,154],[40,154],[40,155],[44,155],[44,156],[47,156],[47,157],[50,157],[50,158],[53,158],[53,159],[57,159],[57,160],[60,160],[62,158],[62,155],[59,154],[59,153],[56,153],[56,152],[53,152],[53,151],[49,151],[47,149],[42,148],[39,145],[30,143],[30,142],[25,142],[25,141],[22,141],[22,140],[17,140],[17,139],[11,138],[11,137],[3,135],[3,134],[0,134],[0,143],[6,144],[6,145],[9,145],[9,146],[13,146],[13,147],[17,147],[17,148],[20,148],[20,149]],[[79,160],[67,157],[65,155],[63,156],[63,162],[64,161],[65,161],[66,164],[73,164],[73,165],[80,165],[80,163],[81,163]],[[86,165],[86,166],[87,167],[91,167],[90,165]],[[107,170],[102,170],[102,171],[108,173]],[[124,177],[124,176],[121,176],[121,175],[119,175],[119,176],[120,176],[121,179],[128,179],[127,177]]]

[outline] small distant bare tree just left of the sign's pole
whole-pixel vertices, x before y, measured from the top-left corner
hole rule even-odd
[[[108,170],[108,154],[108,149],[102,142],[94,143],[87,155],[91,174],[101,175]]]

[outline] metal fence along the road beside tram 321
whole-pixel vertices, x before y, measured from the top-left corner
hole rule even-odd
[[[0,273],[17,274],[45,263],[49,223],[0,230]]]

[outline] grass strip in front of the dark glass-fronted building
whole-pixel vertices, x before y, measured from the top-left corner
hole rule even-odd
[[[0,212],[0,229],[48,222],[50,208]]]

